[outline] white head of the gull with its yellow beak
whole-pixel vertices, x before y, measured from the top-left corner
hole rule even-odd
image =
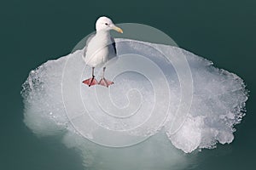
[[[117,26],[114,26],[112,20],[110,20],[106,16],[102,16],[96,21],[96,31],[110,31],[110,30],[123,33],[123,30]]]

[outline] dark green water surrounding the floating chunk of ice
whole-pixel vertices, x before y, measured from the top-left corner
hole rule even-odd
[[[75,150],[58,139],[40,139],[23,121],[21,84],[30,70],[69,54],[94,30],[99,15],[115,23],[142,23],[166,32],[181,48],[240,76],[251,91],[247,116],[232,144],[203,150],[190,169],[253,169],[256,151],[256,2],[237,1],[6,1],[0,3],[1,140],[0,169],[80,170]]]

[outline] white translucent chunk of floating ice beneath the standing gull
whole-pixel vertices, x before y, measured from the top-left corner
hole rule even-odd
[[[118,39],[117,49],[119,59],[107,65],[106,77],[114,82],[110,88],[82,83],[90,77],[83,50],[31,71],[22,90],[26,126],[42,136],[64,132],[64,144],[80,150],[86,166],[99,167],[102,164],[93,161],[97,155],[93,152],[100,146],[86,139],[111,147],[137,147],[145,152],[144,159],[151,155],[139,143],[152,150],[162,148],[170,159],[172,154],[181,159],[175,149],[163,149],[172,147],[166,146],[166,140],[186,153],[233,141],[234,126],[241,122],[247,100],[240,77],[182,48]],[[181,58],[186,59],[184,64]],[[101,69],[96,71],[101,77]],[[109,150],[99,152],[109,155]],[[163,169],[164,164],[170,167],[169,158],[161,163]]]

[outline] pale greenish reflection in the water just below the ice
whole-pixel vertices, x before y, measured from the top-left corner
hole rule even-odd
[[[183,151],[177,150],[164,133],[125,148],[104,147],[74,133],[67,134],[64,144],[79,150],[84,167],[89,169],[183,169],[190,167],[196,157],[186,156]]]

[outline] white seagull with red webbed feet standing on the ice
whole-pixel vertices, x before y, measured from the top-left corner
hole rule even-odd
[[[116,57],[116,46],[113,37],[110,36],[111,30],[123,33],[122,29],[115,26],[113,21],[106,16],[96,20],[96,34],[91,35],[84,48],[83,59],[86,65],[91,67],[91,78],[84,80],[83,83],[89,87],[99,84],[108,88],[113,82],[104,77],[106,67],[103,67],[102,79],[97,82],[94,69],[96,66],[104,65],[109,59]]]

